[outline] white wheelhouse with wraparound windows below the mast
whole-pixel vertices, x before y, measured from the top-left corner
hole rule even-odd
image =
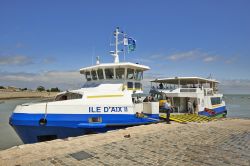
[[[148,66],[120,62],[104,63],[82,68],[80,73],[85,75],[84,88],[98,86],[100,84],[123,84],[123,90],[141,91],[143,72],[149,70]]]

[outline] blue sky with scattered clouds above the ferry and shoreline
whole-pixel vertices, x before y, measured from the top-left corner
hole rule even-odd
[[[248,0],[0,0],[0,85],[79,88],[80,68],[112,62],[117,26],[136,39],[126,61],[150,66],[146,78],[211,74],[250,93]]]

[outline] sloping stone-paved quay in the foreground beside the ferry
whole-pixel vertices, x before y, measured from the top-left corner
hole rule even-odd
[[[0,165],[250,165],[250,120],[152,124],[16,146]]]

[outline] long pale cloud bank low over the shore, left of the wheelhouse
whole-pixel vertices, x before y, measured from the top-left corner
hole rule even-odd
[[[80,88],[85,79],[79,71],[49,71],[43,73],[0,73],[0,82],[4,86],[16,86],[35,89],[42,85],[46,88]]]

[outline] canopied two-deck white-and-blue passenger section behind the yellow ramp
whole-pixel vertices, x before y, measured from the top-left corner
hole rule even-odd
[[[155,85],[154,85],[155,84]],[[164,100],[170,100],[173,113],[189,113],[188,102],[193,112],[209,117],[227,115],[223,94],[218,92],[219,82],[201,77],[173,77],[151,81],[150,93],[159,100],[160,110]]]

